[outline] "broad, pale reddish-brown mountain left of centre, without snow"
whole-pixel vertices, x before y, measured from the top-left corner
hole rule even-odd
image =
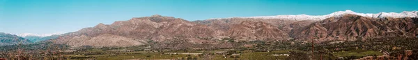
[[[219,33],[208,26],[201,26],[196,23],[174,17],[153,15],[151,17],[132,18],[128,21],[116,21],[110,25],[100,23],[98,26],[93,28],[84,28],[77,32],[63,34],[61,38],[54,41],[56,41],[56,43],[66,43],[75,47],[97,46],[94,43],[116,43],[109,46],[137,46],[144,44],[144,41],[148,39],[154,41],[164,41],[167,39],[173,39],[174,37],[192,39],[190,42],[199,43],[201,41],[199,41],[200,39],[196,39],[196,37],[215,37],[215,34]],[[107,39],[100,39],[100,37],[106,37]],[[127,40],[131,43],[127,43],[127,45],[118,45],[117,42],[105,42],[112,40]]]

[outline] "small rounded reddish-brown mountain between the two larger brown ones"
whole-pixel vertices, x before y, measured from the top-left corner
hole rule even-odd
[[[277,40],[287,39],[288,34],[281,31],[277,26],[264,23],[262,21],[242,21],[240,24],[234,24],[226,32],[227,36],[234,39],[247,40]]]

